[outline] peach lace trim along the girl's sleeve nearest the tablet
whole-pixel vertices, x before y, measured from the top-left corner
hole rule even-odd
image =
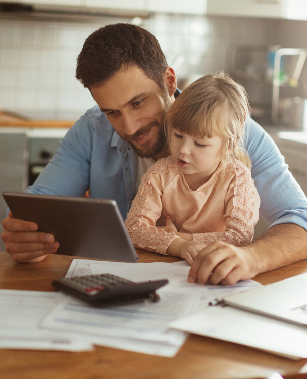
[[[125,221],[133,244],[136,244],[139,248],[150,248],[165,255],[167,255],[166,250],[171,242],[178,236],[175,233],[167,233],[163,229],[157,229],[155,226],[149,225],[142,214],[148,196],[152,194],[150,184],[152,175],[159,172],[166,174],[169,170],[173,170],[174,173],[178,172],[178,166],[171,156],[159,159],[147,169]]]

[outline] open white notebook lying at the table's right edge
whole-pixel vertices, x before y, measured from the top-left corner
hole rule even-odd
[[[292,359],[307,358],[306,290],[307,273],[227,296],[225,303],[236,308],[228,305],[208,307],[170,326]]]

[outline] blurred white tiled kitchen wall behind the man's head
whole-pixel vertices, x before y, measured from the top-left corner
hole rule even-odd
[[[0,109],[33,118],[75,119],[95,103],[75,79],[76,58],[97,28],[123,19],[84,24],[0,21]],[[159,40],[179,79],[227,70],[232,44],[276,43],[277,20],[155,14],[143,27]]]

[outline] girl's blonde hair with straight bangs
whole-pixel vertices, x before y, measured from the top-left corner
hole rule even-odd
[[[251,168],[243,147],[244,124],[250,114],[245,89],[224,72],[194,81],[178,96],[166,115],[168,141],[172,128],[197,138],[220,136],[221,160],[234,157]]]

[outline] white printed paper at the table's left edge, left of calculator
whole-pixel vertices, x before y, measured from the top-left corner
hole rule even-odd
[[[0,290],[0,348],[92,350],[86,339],[38,327],[62,299],[56,292]]]

